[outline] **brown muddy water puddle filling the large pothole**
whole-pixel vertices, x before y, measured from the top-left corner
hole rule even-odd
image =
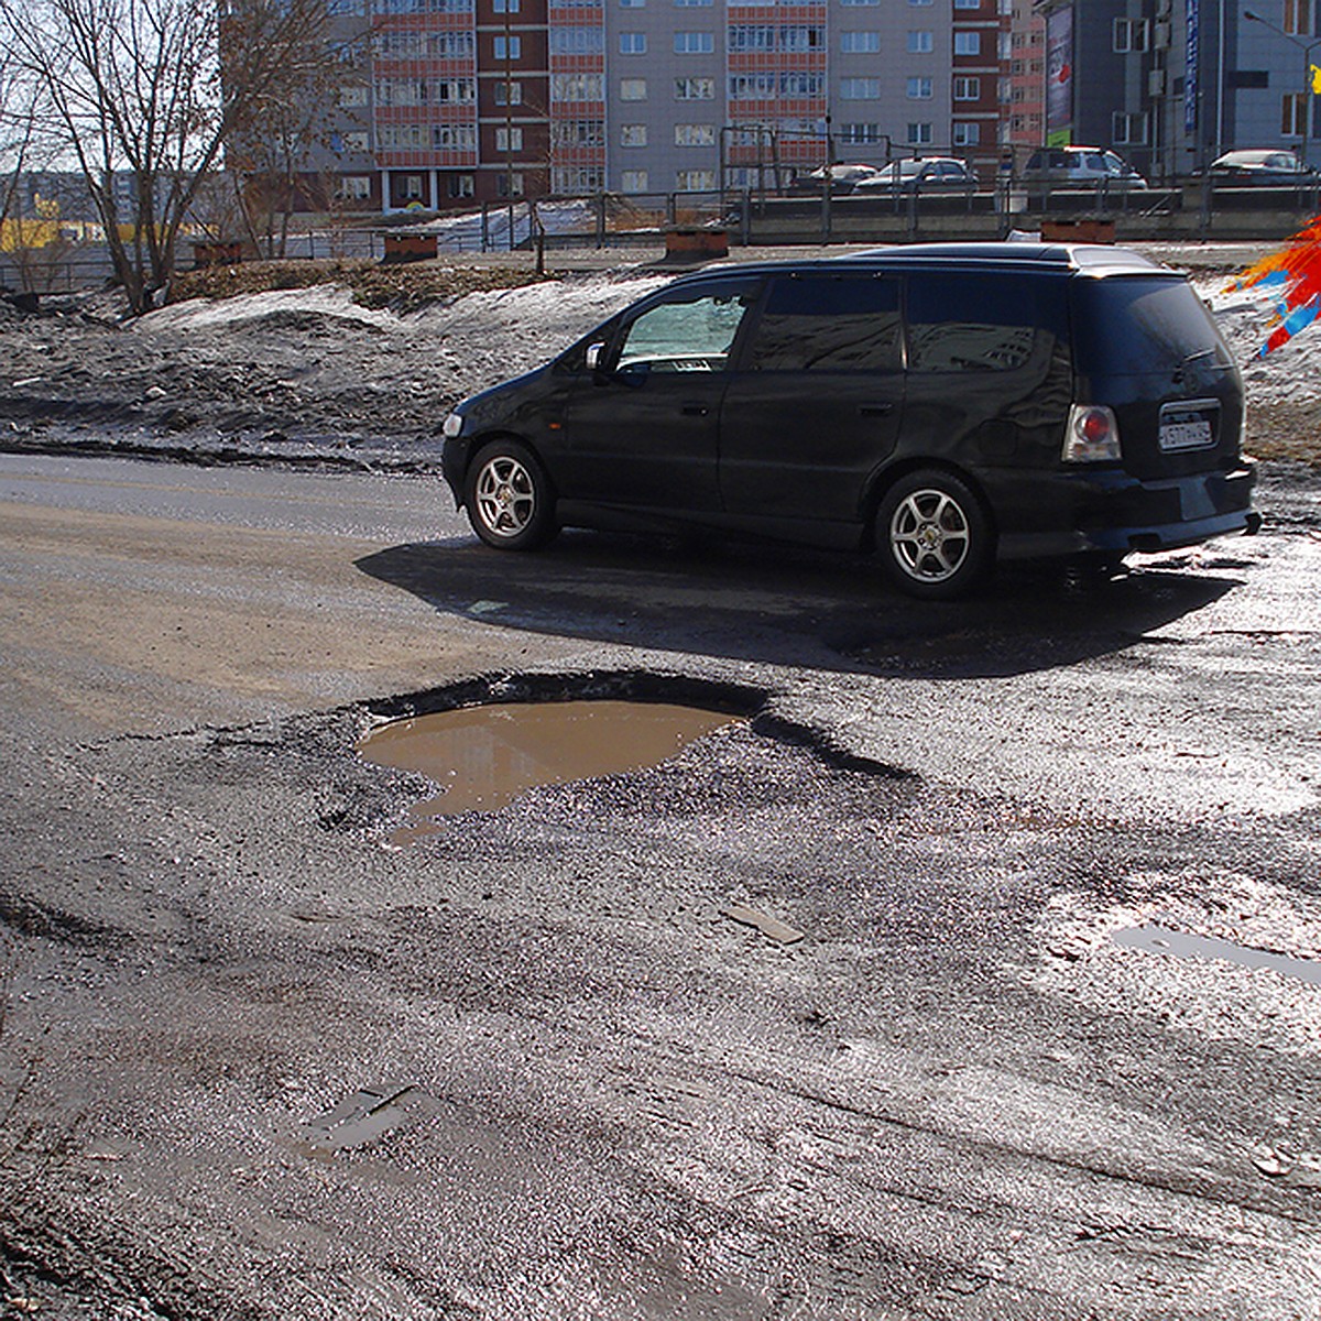
[[[734,717],[643,701],[540,701],[465,707],[374,729],[358,744],[366,761],[411,770],[440,793],[410,807],[392,836],[429,834],[435,818],[495,811],[538,785],[565,785],[658,766]]]

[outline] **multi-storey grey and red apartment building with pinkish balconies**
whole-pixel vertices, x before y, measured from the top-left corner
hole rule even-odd
[[[362,209],[708,192],[913,153],[985,173],[1007,136],[1011,0],[328,3],[370,36],[317,169]]]

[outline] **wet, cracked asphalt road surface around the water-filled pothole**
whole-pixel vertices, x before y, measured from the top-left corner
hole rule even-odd
[[[1276,519],[915,606],[498,556],[423,481],[0,458],[11,1292],[1313,1316],[1318,568]],[[425,785],[361,733],[580,695],[736,719],[390,845]]]

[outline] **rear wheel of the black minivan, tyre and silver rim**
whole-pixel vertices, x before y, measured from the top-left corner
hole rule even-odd
[[[989,576],[995,534],[967,482],[926,468],[901,477],[885,493],[876,511],[876,553],[901,592],[952,601]]]

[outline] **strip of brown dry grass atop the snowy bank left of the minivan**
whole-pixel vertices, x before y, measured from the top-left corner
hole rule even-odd
[[[267,289],[306,289],[339,284],[366,308],[407,312],[485,289],[513,289],[556,276],[509,266],[445,266],[443,262],[402,262],[383,266],[366,260],[244,262],[185,271],[170,284],[170,303],[185,299],[230,299]]]

